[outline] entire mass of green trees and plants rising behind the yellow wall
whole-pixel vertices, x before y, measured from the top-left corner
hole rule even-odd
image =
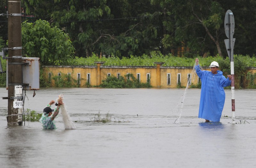
[[[0,2],[1,13],[6,13],[7,1]],[[116,66],[165,62],[163,66],[192,67],[198,57],[201,66],[216,60],[228,73],[224,17],[230,9],[239,86],[244,87],[245,68],[256,67],[253,0],[21,0],[21,6],[23,55],[39,57],[44,65],[104,61]],[[6,17],[0,26],[3,48],[8,40]],[[5,75],[0,74],[1,86]],[[247,80],[254,77],[249,75]]]

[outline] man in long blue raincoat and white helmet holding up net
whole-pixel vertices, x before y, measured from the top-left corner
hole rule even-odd
[[[211,63],[211,71],[201,70],[198,62],[196,58],[196,74],[202,82],[198,117],[205,119],[205,122],[219,122],[225,102],[223,87],[231,84],[231,75],[228,78],[223,76],[216,61]]]

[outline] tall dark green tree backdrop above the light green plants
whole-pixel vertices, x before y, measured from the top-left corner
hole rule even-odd
[[[22,0],[25,13],[69,34],[75,55],[172,53],[227,57],[224,17],[234,13],[234,54],[254,56],[253,0]],[[3,38],[4,39],[4,38]]]

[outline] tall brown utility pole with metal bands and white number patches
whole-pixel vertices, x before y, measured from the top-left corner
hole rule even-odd
[[[22,125],[22,44],[20,0],[8,0],[8,115],[9,125]],[[21,92],[21,93],[20,93]]]

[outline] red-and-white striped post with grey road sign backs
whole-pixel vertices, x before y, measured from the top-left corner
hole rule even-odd
[[[233,34],[235,32],[235,19],[233,12],[231,10],[227,10],[225,15],[225,33],[228,39],[225,39],[225,45],[228,52],[228,57],[230,59],[230,74],[231,74],[231,103],[232,103],[232,123],[236,123],[235,119],[235,80],[234,80],[234,45],[235,38],[233,38]]]

